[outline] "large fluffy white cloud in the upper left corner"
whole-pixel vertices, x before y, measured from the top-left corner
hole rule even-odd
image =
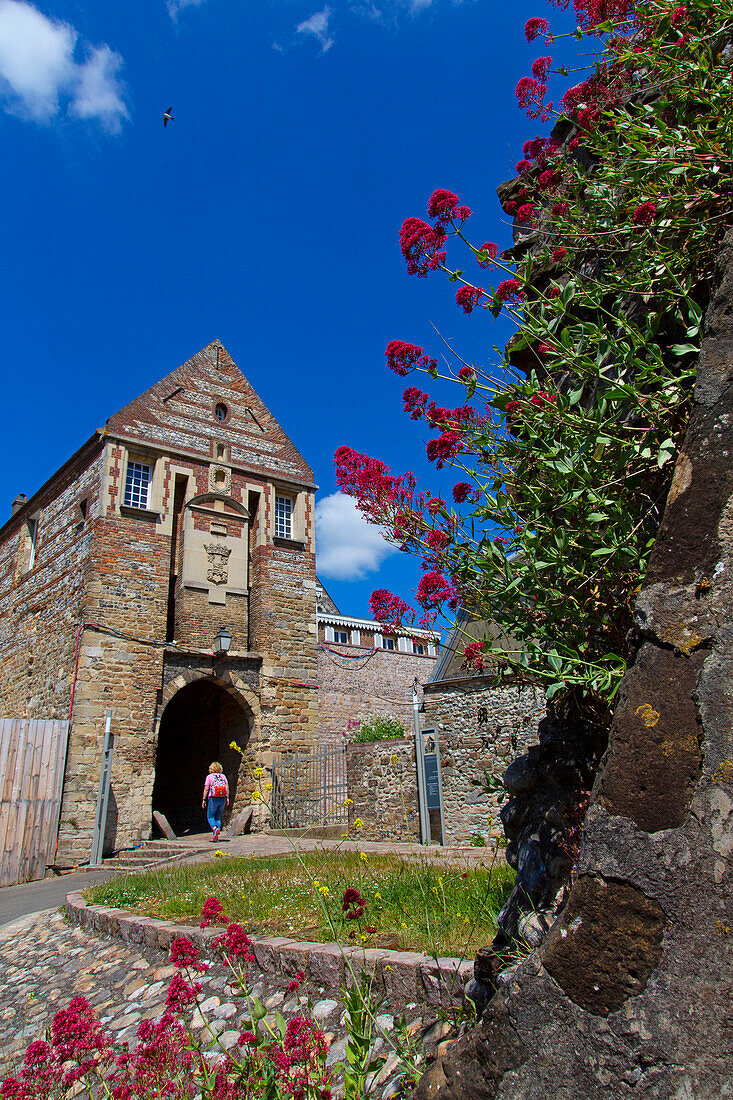
[[[105,45],[76,62],[77,40],[73,26],[25,0],[0,0],[0,101],[9,113],[50,122],[64,101],[69,114],[120,129],[128,118],[117,75],[122,58]]]

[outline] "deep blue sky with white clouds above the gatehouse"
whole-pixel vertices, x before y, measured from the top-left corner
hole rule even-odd
[[[435,323],[482,362],[508,330],[464,317],[441,276],[409,277],[397,233],[447,187],[475,211],[477,244],[510,243],[495,188],[541,132],[514,87],[545,52],[523,37],[545,8],[0,0],[8,514],[215,338],[316,471],[319,499],[342,443],[449,493],[384,346],[437,353]],[[326,505],[321,547],[341,609],[368,614],[376,586],[408,596],[417,563],[380,563],[340,505]]]

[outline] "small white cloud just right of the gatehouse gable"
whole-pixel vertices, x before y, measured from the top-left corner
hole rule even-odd
[[[337,581],[358,581],[396,552],[381,528],[368,524],[351,496],[332,493],[316,505],[316,569]]]

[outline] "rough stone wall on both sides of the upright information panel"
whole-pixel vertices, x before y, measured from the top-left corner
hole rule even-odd
[[[470,844],[501,835],[499,792],[485,794],[475,783],[484,772],[500,777],[508,760],[537,738],[545,714],[540,689],[511,684],[488,686],[466,680],[425,688],[424,729],[440,743],[445,843]],[[419,837],[415,747],[412,737],[351,744],[347,750],[349,820],[363,821],[368,839]]]

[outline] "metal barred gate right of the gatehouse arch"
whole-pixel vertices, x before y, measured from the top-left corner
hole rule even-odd
[[[277,828],[347,823],[346,748],[278,756],[272,766],[272,815]]]

